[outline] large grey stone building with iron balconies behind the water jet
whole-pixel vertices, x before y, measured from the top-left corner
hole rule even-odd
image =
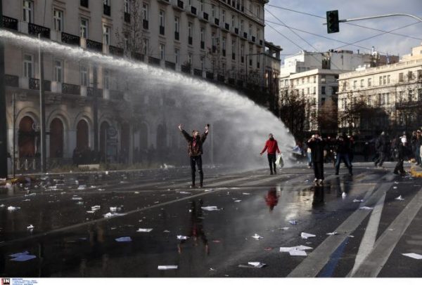
[[[266,57],[266,3],[267,0],[3,1],[3,22],[6,29],[30,37],[41,35],[63,45],[146,62],[236,88],[246,88],[248,81],[264,88],[268,77],[261,63]],[[136,30],[136,37],[129,33],[132,30]],[[160,108],[169,102],[165,94],[158,94],[157,98],[143,94],[146,99],[139,109],[151,114],[134,126],[130,112],[122,112],[132,106],[128,100],[134,91],[128,90],[117,72],[92,62],[44,53],[44,80],[40,83],[37,50],[6,44],[5,58],[8,147],[12,152],[12,146],[16,146],[17,157],[39,154],[40,84],[46,93],[49,158],[70,159],[74,150],[89,147],[104,157],[112,152],[119,157],[122,152],[124,161],[132,161],[135,149],[140,152],[173,144],[173,139],[165,135],[167,121],[158,115],[165,112]],[[272,67],[271,72],[274,73]],[[151,112],[151,105],[155,105],[157,114]],[[167,107],[172,109],[174,105],[170,105]],[[96,110],[98,114],[94,115]],[[104,143],[108,130],[116,131],[114,147]],[[13,133],[17,134],[15,142]],[[164,145],[158,145],[157,138],[163,136]]]

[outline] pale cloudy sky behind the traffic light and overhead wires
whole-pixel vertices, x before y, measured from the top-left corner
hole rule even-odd
[[[412,47],[422,44],[422,22],[404,16],[340,23],[340,32],[335,34],[327,34],[326,25],[322,25],[326,22],[326,11],[332,10],[338,10],[340,20],[391,13],[407,13],[422,18],[422,0],[269,0],[264,8],[265,40],[283,48],[281,52],[282,60],[286,55],[299,53],[302,49],[319,52],[343,49],[354,51],[354,53],[357,53],[359,49],[360,53],[370,53],[372,46],[383,55],[388,53],[389,55],[402,56],[411,53]],[[407,25],[408,27],[404,27]],[[307,34],[297,29],[328,39]],[[393,33],[401,35],[388,34],[373,29],[383,31],[396,29]],[[373,37],[378,34],[381,35]],[[369,37],[373,38],[366,39]],[[365,40],[361,41],[363,39]],[[355,44],[356,46],[345,46],[345,44],[352,44],[356,41],[359,41]]]

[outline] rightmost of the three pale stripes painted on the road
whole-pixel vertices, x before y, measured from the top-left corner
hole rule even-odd
[[[404,207],[402,213],[395,218],[388,228],[393,231],[385,230],[381,237],[376,241],[373,251],[365,258],[362,265],[352,275],[352,277],[377,277],[383,269],[385,263],[390,257],[393,249],[399,242],[404,232],[409,227],[411,221],[415,218],[422,206],[422,188],[411,199],[409,204]]]

